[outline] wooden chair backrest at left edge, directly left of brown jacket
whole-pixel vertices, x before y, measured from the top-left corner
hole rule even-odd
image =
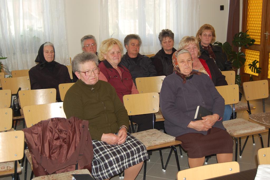
[[[0,144],[0,162],[16,161],[23,158],[23,131],[1,132]]]

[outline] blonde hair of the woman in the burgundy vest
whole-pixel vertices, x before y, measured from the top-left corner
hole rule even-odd
[[[101,42],[99,47],[99,60],[103,61],[105,60],[104,55],[107,54],[114,45],[118,45],[121,51],[121,58],[123,57],[123,45],[122,43],[115,38],[109,38]]]

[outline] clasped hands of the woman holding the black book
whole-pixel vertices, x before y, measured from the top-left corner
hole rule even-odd
[[[187,127],[197,131],[207,131],[208,129],[212,128],[219,117],[220,116],[218,114],[204,116],[202,117],[202,120],[191,121]]]

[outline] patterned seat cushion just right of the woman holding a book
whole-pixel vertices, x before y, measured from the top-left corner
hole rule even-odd
[[[237,136],[241,134],[265,130],[264,126],[249,122],[241,118],[224,121],[223,125],[231,136]]]

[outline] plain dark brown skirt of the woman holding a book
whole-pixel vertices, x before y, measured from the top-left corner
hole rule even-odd
[[[226,130],[212,127],[207,135],[187,133],[176,137],[189,158],[202,158],[211,154],[232,153],[233,140]]]

